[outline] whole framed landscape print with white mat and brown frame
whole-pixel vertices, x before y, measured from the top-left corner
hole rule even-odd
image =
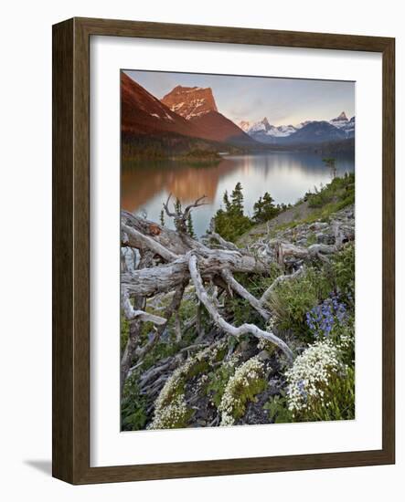
[[[53,27],[53,475],[395,461],[394,39]]]

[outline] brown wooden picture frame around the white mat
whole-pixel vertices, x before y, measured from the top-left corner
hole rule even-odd
[[[90,466],[90,38],[145,37],[369,51],[383,69],[382,448],[153,465]],[[89,484],[395,462],[395,40],[73,18],[53,26],[53,476]]]

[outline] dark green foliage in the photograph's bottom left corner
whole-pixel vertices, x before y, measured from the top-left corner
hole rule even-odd
[[[144,429],[148,416],[147,403],[139,392],[137,375],[131,375],[123,387],[121,403],[121,425],[123,431],[139,431]]]

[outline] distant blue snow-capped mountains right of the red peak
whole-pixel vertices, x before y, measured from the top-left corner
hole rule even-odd
[[[286,142],[338,141],[353,138],[355,122],[355,117],[348,120],[345,111],[342,111],[336,119],[329,121],[305,120],[295,125],[274,126],[267,117],[264,117],[263,120],[252,123],[248,120],[242,120],[239,126],[256,141],[285,144]]]

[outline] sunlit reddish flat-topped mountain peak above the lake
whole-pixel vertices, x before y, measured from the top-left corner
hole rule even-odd
[[[218,111],[211,88],[176,86],[162,102],[185,119],[193,119],[209,111]]]

